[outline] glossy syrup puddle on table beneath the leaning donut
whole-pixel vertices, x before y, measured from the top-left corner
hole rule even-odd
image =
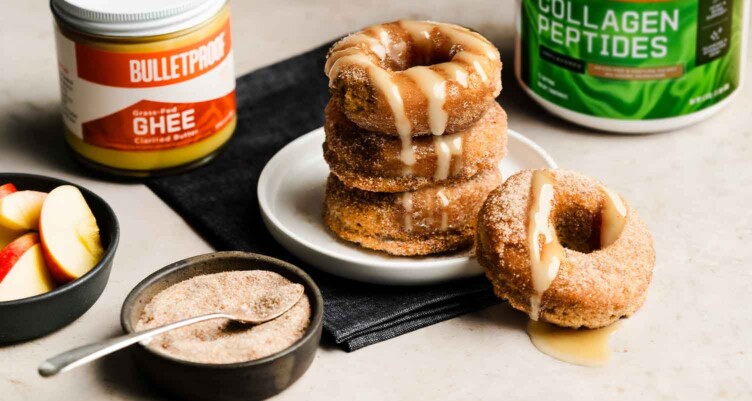
[[[529,320],[527,334],[538,350],[574,365],[600,367],[611,359],[608,338],[621,327],[617,321],[600,329],[570,329]]]

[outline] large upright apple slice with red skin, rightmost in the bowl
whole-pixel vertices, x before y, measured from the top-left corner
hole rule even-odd
[[[52,190],[39,219],[44,258],[60,283],[91,270],[104,255],[99,227],[81,191],[70,185]]]

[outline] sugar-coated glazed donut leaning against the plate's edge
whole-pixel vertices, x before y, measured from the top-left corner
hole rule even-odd
[[[561,170],[509,177],[479,213],[477,243],[497,296],[533,320],[572,328],[632,315],[655,265],[634,209],[594,179]]]

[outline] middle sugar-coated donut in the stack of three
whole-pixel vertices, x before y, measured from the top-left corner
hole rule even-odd
[[[365,191],[405,192],[474,176],[506,153],[506,113],[493,103],[466,131],[413,140],[415,163],[405,174],[397,138],[365,131],[336,104],[326,107],[324,158],[345,185]]]

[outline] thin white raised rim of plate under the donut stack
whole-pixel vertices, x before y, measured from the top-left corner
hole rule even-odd
[[[309,242],[308,240],[292,232],[287,226],[285,226],[277,218],[277,216],[271,212],[271,207],[269,203],[267,202],[266,196],[262,195],[262,192],[265,194],[267,191],[262,191],[261,189],[269,187],[269,180],[272,174],[271,173],[272,168],[274,168],[274,165],[281,163],[281,160],[283,160],[283,153],[287,148],[294,146],[298,142],[310,141],[312,140],[312,138],[314,138],[315,135],[319,133],[323,134],[323,131],[324,131],[324,127],[322,126],[295,138],[294,140],[292,140],[291,142],[283,146],[281,149],[279,149],[274,154],[274,156],[272,156],[271,159],[269,159],[269,161],[267,161],[266,164],[264,165],[264,168],[261,170],[261,174],[259,175],[258,184],[256,185],[256,197],[259,202],[259,210],[261,211],[264,221],[271,222],[277,230],[281,231],[289,239],[297,242],[301,246],[313,252],[323,254],[326,257],[333,258],[336,260],[341,260],[343,262],[358,265],[358,266],[376,267],[376,268],[383,268],[383,269],[400,268],[400,269],[409,269],[409,270],[425,270],[425,269],[432,269],[436,267],[447,267],[448,264],[462,264],[462,263],[466,263],[467,260],[470,259],[469,255],[457,255],[454,257],[447,257],[447,258],[437,259],[437,260],[405,260],[405,259],[408,259],[409,257],[395,257],[395,260],[383,260],[383,261],[376,262],[376,261],[371,261],[370,258],[360,259],[360,258],[355,258],[350,255],[344,255],[341,253],[332,252],[327,248],[323,248],[314,243]],[[507,129],[507,136],[514,138],[516,140],[519,140],[520,142],[524,143],[525,145],[533,149],[539,156],[541,156],[541,158],[543,158],[544,162],[548,165],[548,168],[558,168],[557,163],[554,161],[551,155],[549,155],[548,152],[545,149],[543,149],[543,147],[538,145],[536,142],[534,142],[530,138],[520,134],[519,132],[511,128]],[[290,249],[284,246],[284,244],[280,243],[280,245],[282,245],[283,248],[287,249],[287,251],[292,252]],[[307,261],[307,263],[311,263],[311,262]]]

